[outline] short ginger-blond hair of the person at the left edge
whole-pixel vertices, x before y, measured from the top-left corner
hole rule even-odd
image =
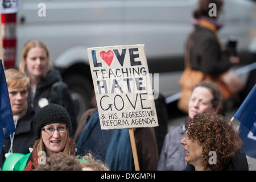
[[[5,77],[8,88],[27,88],[30,89],[30,78],[25,73],[18,71],[17,69],[7,69],[5,71]]]

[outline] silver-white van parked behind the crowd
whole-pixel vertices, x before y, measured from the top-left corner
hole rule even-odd
[[[255,2],[224,2],[221,40],[236,36],[238,51],[246,52]],[[39,16],[39,3],[46,5],[46,16]],[[15,66],[27,40],[45,42],[53,65],[79,102],[80,118],[92,93],[88,47],[143,43],[151,73],[182,71],[184,44],[193,30],[196,7],[197,0],[23,0],[17,18]]]

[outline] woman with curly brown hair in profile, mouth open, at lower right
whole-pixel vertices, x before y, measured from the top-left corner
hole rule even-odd
[[[195,171],[247,171],[242,140],[234,125],[218,114],[200,113],[186,123],[187,132],[180,141],[184,145],[185,170]],[[216,161],[210,160],[211,152]],[[216,153],[215,153],[216,152]]]

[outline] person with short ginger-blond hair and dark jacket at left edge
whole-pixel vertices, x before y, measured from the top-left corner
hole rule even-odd
[[[28,148],[32,147],[36,140],[32,123],[35,110],[27,104],[30,80],[26,74],[16,69],[7,69],[5,75],[16,131],[5,139],[0,155],[1,166],[10,154],[27,154]]]

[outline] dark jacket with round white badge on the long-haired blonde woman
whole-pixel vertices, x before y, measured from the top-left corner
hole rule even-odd
[[[30,92],[31,93],[31,92]],[[46,77],[42,77],[36,86],[34,100],[31,94],[28,96],[28,104],[38,111],[41,107],[39,102],[41,98],[46,98],[52,104],[62,105],[69,113],[72,121],[72,136],[75,134],[77,122],[76,113],[73,107],[71,94],[68,91],[68,86],[62,81],[59,71],[52,69],[47,73]]]

